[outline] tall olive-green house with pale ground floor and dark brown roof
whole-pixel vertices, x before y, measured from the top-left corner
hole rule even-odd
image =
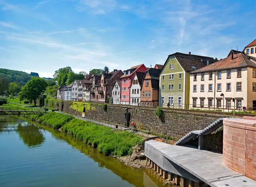
[[[217,59],[207,56],[176,52],[170,54],[160,72],[159,106],[189,108],[190,72]]]

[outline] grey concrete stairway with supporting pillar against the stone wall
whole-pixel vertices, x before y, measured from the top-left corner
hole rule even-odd
[[[187,133],[184,137],[176,141],[174,145],[182,145],[193,139],[194,137],[198,136],[198,149],[202,148],[202,136],[210,134],[212,131],[215,131],[218,129],[220,126],[223,125],[223,118],[219,118],[210,125],[208,125],[206,128],[202,130],[197,130],[197,131],[190,131]]]

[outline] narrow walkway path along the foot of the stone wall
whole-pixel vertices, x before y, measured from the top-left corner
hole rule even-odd
[[[70,113],[65,113],[65,112],[61,112],[61,111],[56,111],[58,113],[64,113],[64,114],[68,114],[68,115],[72,115]],[[133,132],[133,133],[136,133],[136,134],[139,134],[141,136],[144,136],[144,137],[147,137],[147,138],[150,138],[150,139],[153,139],[153,138],[156,138],[157,136],[155,135],[152,135],[152,134],[147,134],[147,133],[143,133],[143,132],[135,132],[135,131],[132,131],[130,130],[129,128],[127,127],[124,127],[122,125],[113,125],[113,124],[109,124],[109,123],[105,123],[104,122],[100,122],[100,121],[96,121],[95,119],[89,119],[89,118],[84,118],[82,116],[78,116],[78,115],[72,115],[73,117],[77,118],[77,119],[81,119],[81,120],[84,120],[84,121],[90,121],[92,123],[96,123],[96,124],[99,124],[99,125],[104,125],[106,127],[110,127],[112,129],[118,129],[118,130],[126,130],[126,131],[130,131],[130,132]],[[116,128],[117,127],[117,128]]]

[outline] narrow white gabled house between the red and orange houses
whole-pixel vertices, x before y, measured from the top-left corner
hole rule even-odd
[[[144,76],[144,72],[135,72],[134,78],[131,81],[130,87],[130,104],[140,105],[140,88]]]

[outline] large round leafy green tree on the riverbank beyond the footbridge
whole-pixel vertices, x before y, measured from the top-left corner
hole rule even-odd
[[[44,93],[47,87],[47,82],[43,78],[32,77],[25,86],[21,88],[19,93],[20,101],[34,100],[34,105],[36,105],[36,99]]]

